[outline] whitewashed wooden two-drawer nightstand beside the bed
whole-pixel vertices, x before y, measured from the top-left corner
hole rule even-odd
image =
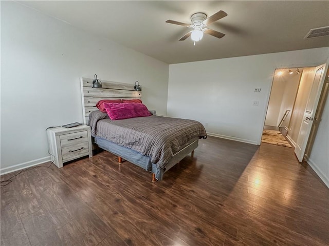
[[[72,128],[56,127],[47,130],[50,154],[54,163],[62,168],[63,163],[89,155],[93,156],[92,137],[89,126]],[[53,160],[51,156],[51,160]]]

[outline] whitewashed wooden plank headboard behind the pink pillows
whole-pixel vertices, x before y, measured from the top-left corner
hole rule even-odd
[[[98,110],[102,99],[141,99],[142,92],[135,91],[134,84],[102,80],[102,88],[93,88],[93,78],[80,78],[83,124],[87,124],[90,112]]]

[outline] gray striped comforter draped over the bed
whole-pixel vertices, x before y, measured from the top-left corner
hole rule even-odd
[[[111,120],[106,113],[94,111],[89,115],[88,125],[92,128],[92,136],[150,156],[159,169],[197,138],[207,137],[198,121],[155,115]]]

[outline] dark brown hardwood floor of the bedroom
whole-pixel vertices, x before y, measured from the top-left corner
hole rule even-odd
[[[105,151],[29,169],[1,187],[1,245],[329,244],[329,190],[291,148],[208,137],[151,177]]]

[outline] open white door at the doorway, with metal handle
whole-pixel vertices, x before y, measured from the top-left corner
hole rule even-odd
[[[295,154],[300,162],[303,161],[308,136],[313,125],[314,115],[318,106],[320,92],[324,81],[324,77],[323,77],[324,72],[325,72],[325,64],[320,65],[316,68],[312,89],[310,90],[308,96],[308,100],[304,112],[304,118],[299,130],[299,135],[297,138],[296,148],[295,148]]]

